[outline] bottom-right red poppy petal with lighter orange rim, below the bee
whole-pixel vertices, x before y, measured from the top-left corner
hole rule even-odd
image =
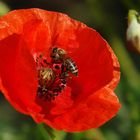
[[[66,113],[44,121],[58,130],[84,131],[104,124],[116,115],[119,108],[116,95],[109,88],[103,88],[74,104]]]

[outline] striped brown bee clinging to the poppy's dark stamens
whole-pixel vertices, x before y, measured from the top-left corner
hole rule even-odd
[[[61,48],[54,47],[51,52],[53,63],[62,63],[62,75],[68,76],[68,72],[74,76],[78,75],[76,63],[67,55],[67,52]]]

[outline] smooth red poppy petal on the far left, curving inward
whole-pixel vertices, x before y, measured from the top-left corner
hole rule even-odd
[[[34,60],[26,47],[19,35],[0,41],[2,90],[11,104],[25,114],[34,106],[37,89]]]

